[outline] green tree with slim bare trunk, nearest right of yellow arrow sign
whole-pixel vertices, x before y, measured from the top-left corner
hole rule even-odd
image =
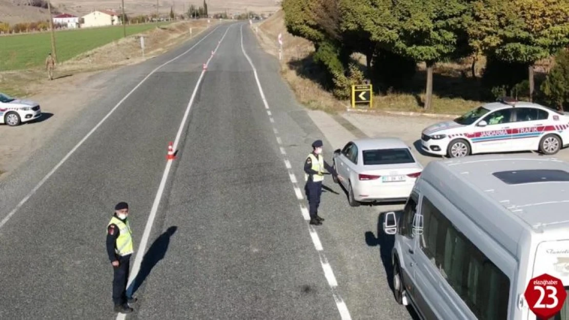
[[[392,6],[397,19],[398,39],[393,51],[427,65],[424,109],[432,99],[434,65],[456,55],[457,43],[464,30],[466,0],[399,0]]]

